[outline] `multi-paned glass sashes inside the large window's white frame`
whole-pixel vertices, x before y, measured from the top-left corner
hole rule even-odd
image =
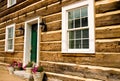
[[[88,6],[68,11],[69,49],[89,48]]]

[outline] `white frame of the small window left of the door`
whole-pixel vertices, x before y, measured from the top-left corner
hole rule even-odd
[[[8,49],[8,28],[13,27],[13,47],[12,49]],[[15,40],[15,24],[6,26],[6,38],[5,38],[5,51],[6,52],[14,52],[14,40]]]

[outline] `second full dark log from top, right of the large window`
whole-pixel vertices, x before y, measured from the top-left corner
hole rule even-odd
[[[103,14],[102,17],[96,18],[95,24],[96,24],[96,27],[119,25],[120,24],[120,13],[108,15],[108,16],[104,16]]]

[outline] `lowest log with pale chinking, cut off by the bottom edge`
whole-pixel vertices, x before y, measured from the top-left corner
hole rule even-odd
[[[49,76],[47,81],[102,81],[97,79],[83,78],[72,75],[65,75],[59,73],[45,72]],[[54,78],[53,78],[54,77]]]

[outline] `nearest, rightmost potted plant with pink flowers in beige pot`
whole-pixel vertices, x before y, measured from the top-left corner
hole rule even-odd
[[[32,72],[33,72],[34,81],[42,81],[43,76],[44,76],[44,72],[43,72],[43,67],[42,66],[34,67],[32,69]]]

